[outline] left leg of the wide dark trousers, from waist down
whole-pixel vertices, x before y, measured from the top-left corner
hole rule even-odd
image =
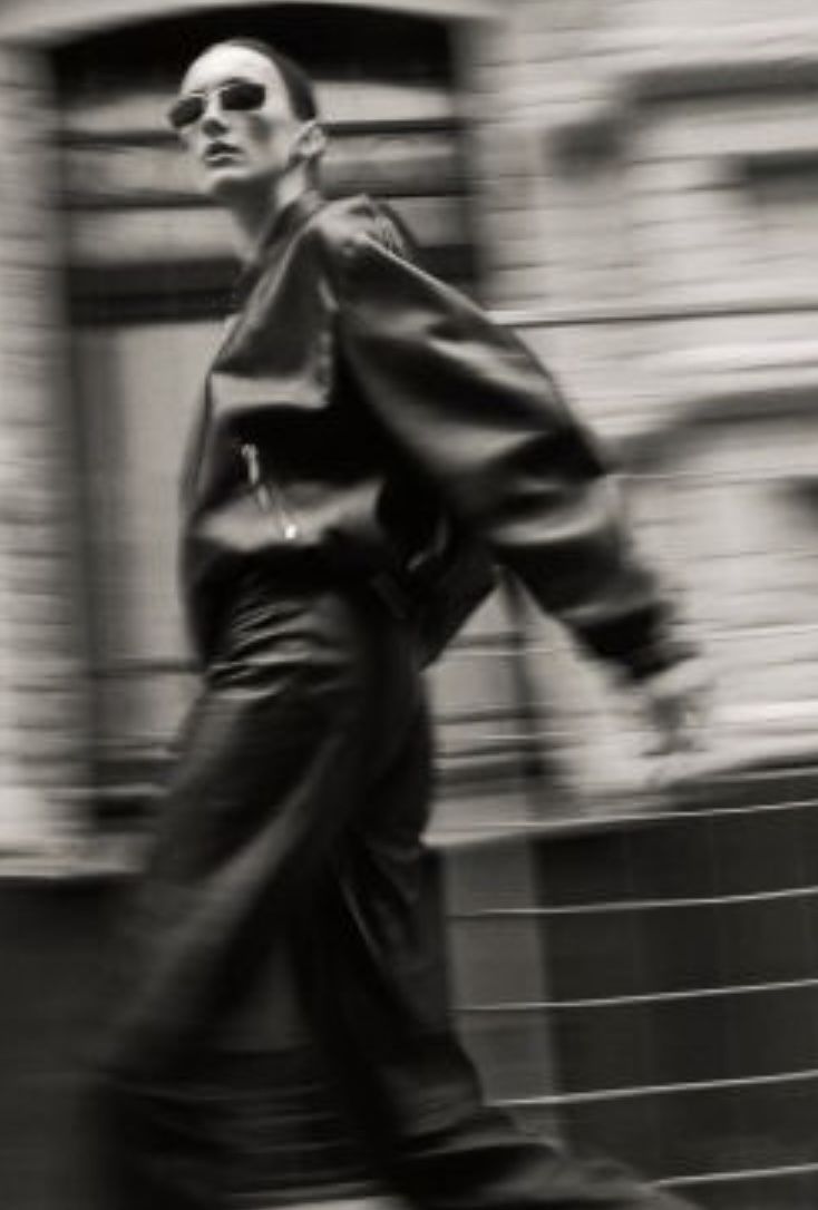
[[[335,877],[368,771],[388,761],[413,708],[401,692],[410,686],[391,675],[385,628],[332,593],[250,601],[234,620],[122,943],[121,1012],[100,1062],[108,1169],[120,1177],[111,1204],[227,1204],[213,1114],[196,1101],[202,1064],[272,956],[284,952],[287,978],[292,921]],[[289,979],[298,1002],[292,967]],[[282,1044],[273,1020],[259,1045]]]

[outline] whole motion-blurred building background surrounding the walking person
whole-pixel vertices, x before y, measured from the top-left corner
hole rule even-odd
[[[2,1204],[90,1204],[76,1068],[195,691],[175,473],[235,263],[163,110],[237,33],[318,81],[327,190],[388,198],[610,443],[716,679],[667,785],[513,584],[433,672],[488,1090],[707,1205],[812,1208],[814,0],[0,0]],[[303,1122],[282,1198],[348,1192]]]

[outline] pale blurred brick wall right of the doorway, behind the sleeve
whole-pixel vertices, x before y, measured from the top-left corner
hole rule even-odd
[[[814,6],[506,12],[462,53],[488,301],[633,472],[718,675],[715,759],[810,756]],[[572,661],[561,676],[597,743],[615,707],[591,681],[577,698]]]

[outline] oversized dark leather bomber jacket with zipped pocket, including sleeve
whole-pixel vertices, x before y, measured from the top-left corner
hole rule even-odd
[[[439,615],[432,655],[486,592],[489,559],[634,675],[676,658],[595,445],[513,335],[415,266],[388,212],[303,195],[243,295],[183,479],[206,661],[253,570],[373,586],[419,629]]]

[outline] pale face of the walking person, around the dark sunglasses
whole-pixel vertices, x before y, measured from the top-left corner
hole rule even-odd
[[[234,81],[264,85],[261,106],[231,110],[218,90]],[[267,191],[293,162],[293,149],[305,123],[290,110],[275,65],[243,46],[214,46],[189,68],[179,96],[201,94],[204,110],[179,133],[194,161],[202,192],[218,201]]]

